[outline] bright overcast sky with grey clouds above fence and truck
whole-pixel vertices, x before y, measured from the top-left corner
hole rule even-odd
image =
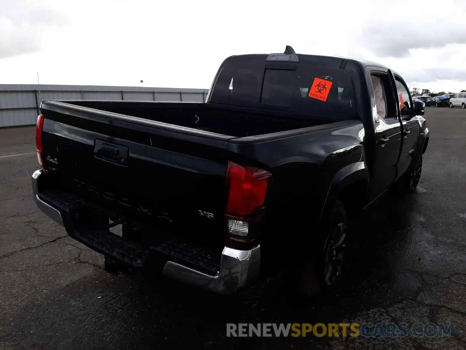
[[[0,0],[0,84],[209,88],[227,56],[286,45],[466,89],[465,0]]]

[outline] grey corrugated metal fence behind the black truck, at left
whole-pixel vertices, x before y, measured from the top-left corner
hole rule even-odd
[[[0,127],[34,125],[43,100],[203,102],[206,89],[0,84]]]

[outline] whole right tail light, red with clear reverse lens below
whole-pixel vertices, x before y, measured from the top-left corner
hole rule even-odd
[[[268,171],[260,168],[228,163],[226,172],[228,201],[225,216],[230,235],[248,236],[251,233],[249,225],[254,225],[263,216],[267,185],[271,176]]]

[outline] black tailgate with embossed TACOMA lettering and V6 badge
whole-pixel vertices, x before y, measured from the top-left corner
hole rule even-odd
[[[63,189],[158,232],[223,242],[232,136],[44,102],[43,163]],[[213,240],[212,240],[213,238]]]

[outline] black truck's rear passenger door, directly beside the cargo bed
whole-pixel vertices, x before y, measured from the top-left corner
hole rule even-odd
[[[373,112],[375,154],[370,181],[370,197],[374,199],[395,181],[402,136],[390,71],[377,68],[368,73],[373,87],[372,108],[377,110]]]

